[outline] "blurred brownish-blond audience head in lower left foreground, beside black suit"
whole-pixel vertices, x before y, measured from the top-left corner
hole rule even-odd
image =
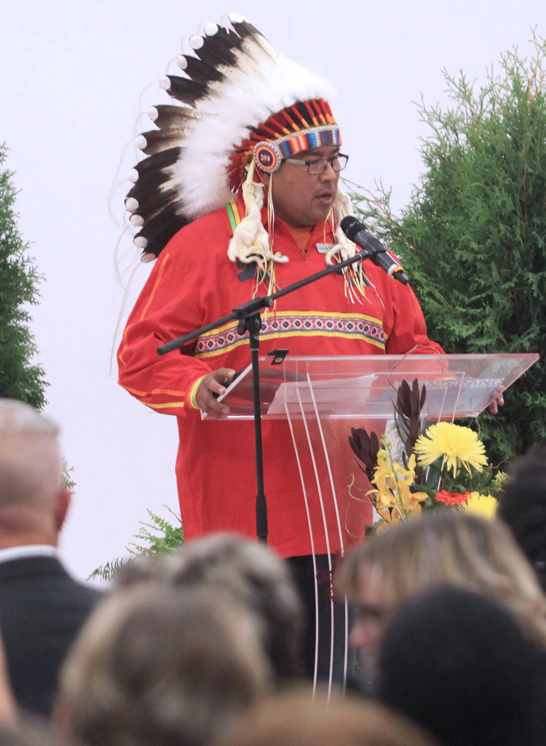
[[[201,746],[269,689],[254,617],[213,592],[119,589],[66,659],[54,712],[87,746]]]

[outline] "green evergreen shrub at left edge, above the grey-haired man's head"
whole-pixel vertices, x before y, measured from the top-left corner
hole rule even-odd
[[[0,396],[40,410],[47,383],[43,369],[31,363],[37,348],[28,329],[28,304],[37,304],[42,278],[17,230],[13,173],[1,167],[6,152],[5,143],[0,144]]]

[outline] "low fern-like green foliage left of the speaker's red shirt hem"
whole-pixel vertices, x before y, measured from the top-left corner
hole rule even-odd
[[[154,557],[157,554],[166,554],[166,552],[172,551],[178,546],[183,544],[184,536],[180,515],[175,513],[165,505],[169,513],[175,518],[175,525],[173,526],[165,518],[160,518],[159,515],[155,515],[151,510],[147,510],[151,523],[145,521],[139,521],[140,529],[135,534],[135,539],[139,542],[146,542],[147,545],[137,544],[131,542],[125,549],[131,557],[128,558],[116,558],[111,562],[106,562],[104,565],[96,568],[90,574],[88,580],[94,580],[99,578],[100,580],[113,580],[118,574],[123,565],[133,561],[136,557]],[[155,533],[159,532],[159,533]]]

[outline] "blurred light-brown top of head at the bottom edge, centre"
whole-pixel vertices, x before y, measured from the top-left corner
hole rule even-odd
[[[215,746],[435,746],[420,727],[376,703],[284,692],[237,718]]]

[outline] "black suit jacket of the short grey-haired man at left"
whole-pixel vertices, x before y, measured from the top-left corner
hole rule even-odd
[[[19,706],[49,715],[60,664],[101,595],[56,557],[0,562],[0,629]]]

